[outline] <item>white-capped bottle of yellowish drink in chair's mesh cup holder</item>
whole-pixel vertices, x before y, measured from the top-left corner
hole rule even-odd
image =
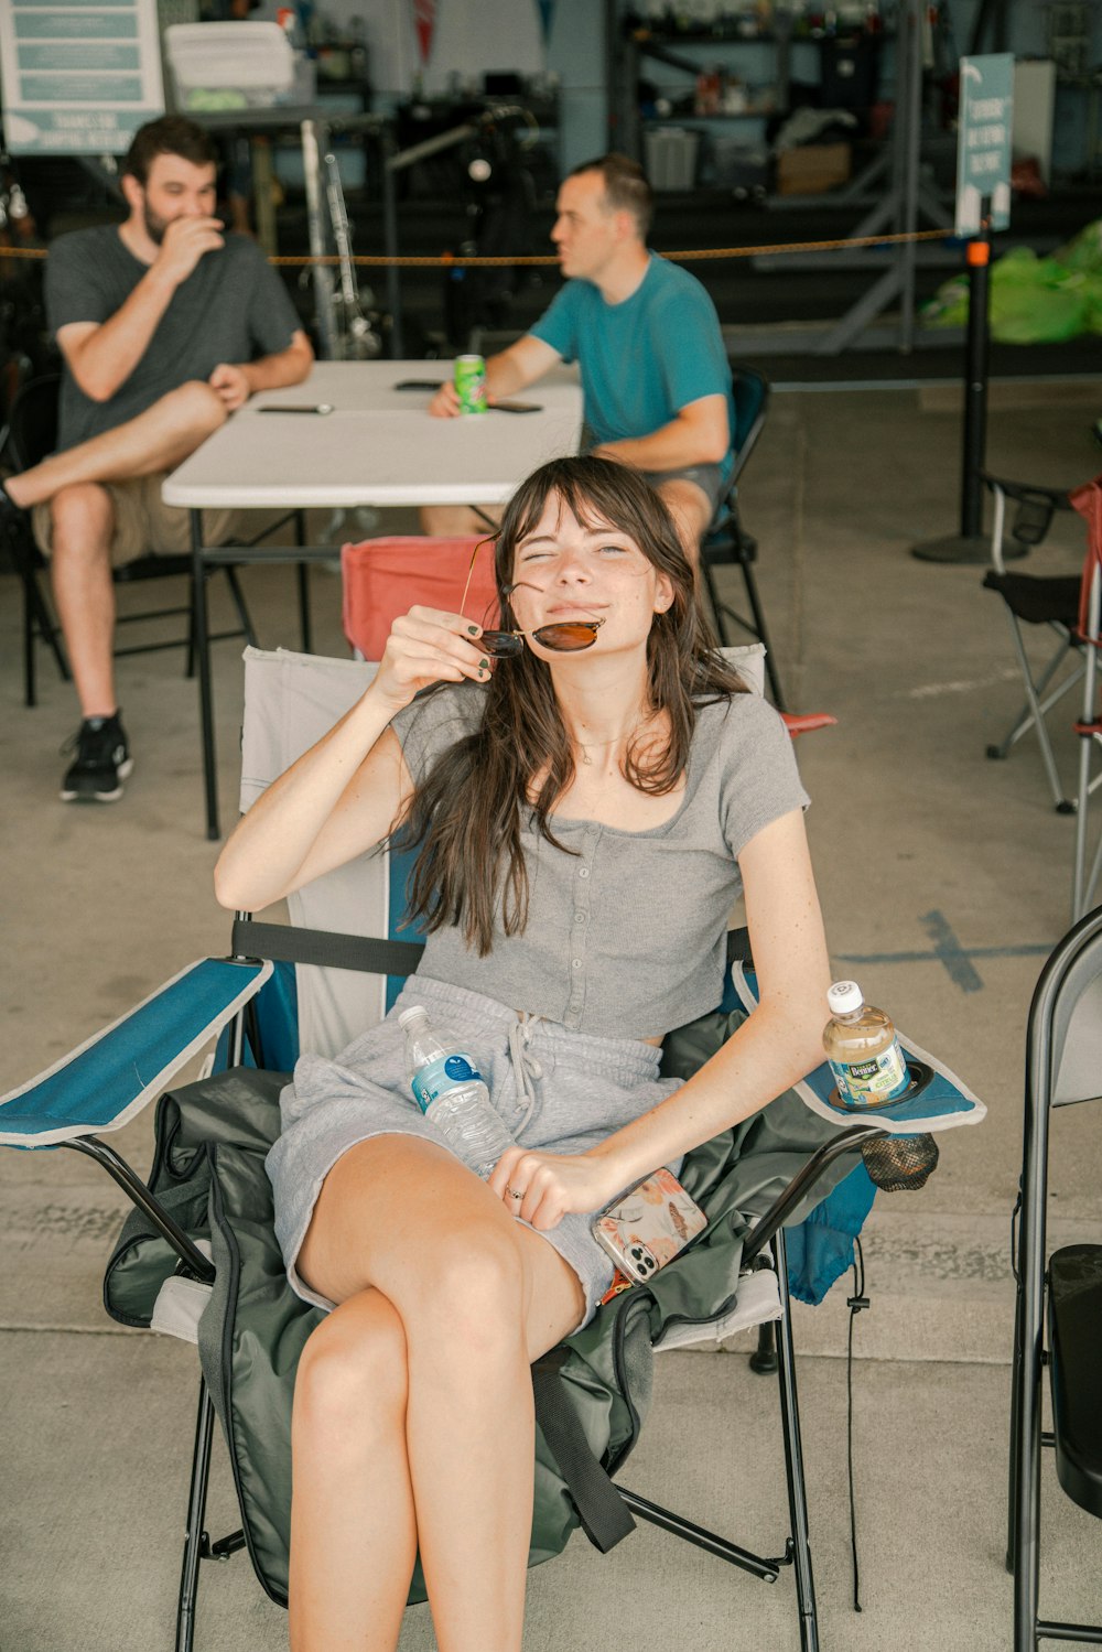
[[[823,1031],[823,1049],[838,1080],[838,1105],[864,1113],[900,1100],[910,1089],[910,1072],[892,1018],[866,1004],[856,981],[834,981],[826,1003],[831,1019]],[[862,1142],[861,1156],[877,1188],[900,1193],[924,1186],[937,1168],[938,1151],[933,1137],[922,1132]]]

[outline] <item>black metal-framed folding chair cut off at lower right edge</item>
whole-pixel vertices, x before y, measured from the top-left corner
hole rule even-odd
[[[1051,1256],[1046,1249],[1049,1115],[1102,1097],[1100,1031],[1102,909],[1059,943],[1029,1008],[1009,1455],[1014,1652],[1036,1652],[1044,1639],[1102,1645],[1102,1624],[1038,1616],[1043,1446],[1054,1447],[1067,1497],[1102,1520],[1102,1244],[1071,1244]],[[1099,1224],[1094,1236],[1102,1236]],[[1046,1370],[1051,1432],[1041,1427]]]

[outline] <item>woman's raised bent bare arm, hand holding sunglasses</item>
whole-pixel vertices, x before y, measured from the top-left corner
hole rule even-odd
[[[477,631],[469,620],[435,608],[411,608],[395,620],[363,695],[230,836],[215,867],[223,907],[258,912],[382,843],[411,790],[390,722],[433,682],[486,679]]]

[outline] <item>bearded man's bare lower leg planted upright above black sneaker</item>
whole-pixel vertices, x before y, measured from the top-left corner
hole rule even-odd
[[[55,496],[50,577],[83,717],[111,717],[114,691],[114,506],[106,487],[81,482]]]

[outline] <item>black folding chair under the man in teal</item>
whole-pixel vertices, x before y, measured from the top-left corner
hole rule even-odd
[[[765,674],[768,677],[773,704],[783,712],[786,710],[785,695],[780,686],[780,674],[773,664],[773,651],[770,648],[768,631],[765,626],[765,610],[762,608],[762,598],[758,596],[758,586],[753,577],[753,563],[758,557],[758,542],[752,534],[747,534],[739,512],[739,479],[742,477],[750,454],[757,446],[757,439],[765,426],[765,415],[770,401],[770,383],[763,373],[757,372],[757,368],[740,367],[735,362],[730,363],[730,377],[735,398],[735,430],[732,431],[735,468],[730,474],[727,496],[715,514],[712,527],[704,535],[701,544],[701,578],[704,580],[704,590],[707,591],[712,613],[715,615],[720,643],[732,646],[745,641],[745,636],[739,636],[732,631],[734,626],[737,631],[748,633],[752,638],[757,638],[758,643],[765,644]],[[714,570],[730,565],[742,570],[747,601],[750,605],[750,618],[737,613],[730,603],[722,601],[719,595]]]

